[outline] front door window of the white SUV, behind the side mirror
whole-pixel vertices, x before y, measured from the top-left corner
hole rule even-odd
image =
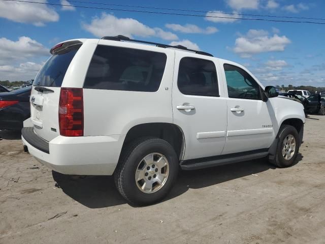
[[[223,68],[228,87],[228,97],[261,99],[259,85],[246,71],[228,64],[224,64]]]

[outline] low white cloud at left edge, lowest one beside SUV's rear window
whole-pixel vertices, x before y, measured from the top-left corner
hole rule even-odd
[[[1,80],[30,80],[34,79],[42,68],[44,63],[36,64],[34,62],[21,63],[18,66],[4,65],[0,66]]]

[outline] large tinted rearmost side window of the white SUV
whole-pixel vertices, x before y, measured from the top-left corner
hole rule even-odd
[[[98,45],[84,88],[156,92],[166,60],[165,53]]]

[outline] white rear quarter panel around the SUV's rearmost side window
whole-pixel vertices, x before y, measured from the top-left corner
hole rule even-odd
[[[84,88],[84,135],[125,135],[129,129],[139,124],[173,123],[172,81],[175,51],[108,40],[100,40],[99,44],[163,52],[167,55],[167,62],[157,92]]]

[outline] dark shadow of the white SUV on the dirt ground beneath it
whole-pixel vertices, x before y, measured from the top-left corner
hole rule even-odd
[[[303,156],[299,154],[295,164],[302,158]],[[200,170],[180,170],[175,186],[163,201],[175,198],[189,188],[205,188],[269,169],[275,169],[275,167],[267,160],[259,159]],[[57,182],[56,187],[61,188],[68,196],[89,208],[103,208],[127,203],[116,190],[113,176],[83,177],[63,175],[55,171],[52,171],[52,175]]]

